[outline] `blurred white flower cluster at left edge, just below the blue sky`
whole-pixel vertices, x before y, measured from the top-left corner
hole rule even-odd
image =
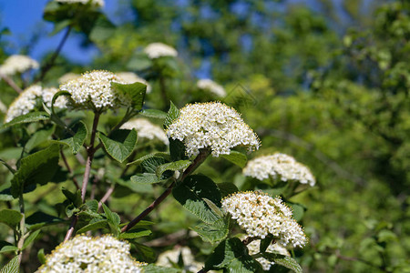
[[[5,59],[5,63],[0,66],[0,74],[13,76],[15,73],[23,73],[29,69],[39,67],[36,60],[24,55],[12,55]]]

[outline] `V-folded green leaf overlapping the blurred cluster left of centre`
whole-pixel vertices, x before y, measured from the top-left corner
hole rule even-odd
[[[137,131],[117,130],[111,136],[105,136],[98,132],[98,138],[101,140],[109,156],[122,163],[134,151],[137,144]]]

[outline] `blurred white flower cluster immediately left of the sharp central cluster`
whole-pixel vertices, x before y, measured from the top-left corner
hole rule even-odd
[[[149,122],[145,118],[134,118],[126,122],[121,126],[121,129],[136,129],[138,132],[138,138],[146,138],[149,140],[159,139],[165,145],[169,145],[169,140],[167,135],[165,135],[164,130],[160,126],[156,126]]]

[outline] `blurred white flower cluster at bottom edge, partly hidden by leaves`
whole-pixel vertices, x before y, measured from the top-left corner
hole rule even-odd
[[[187,247],[175,248],[161,253],[156,265],[159,267],[171,268],[172,263],[178,264],[179,255],[182,256],[182,260],[184,261],[182,272],[198,272],[203,268],[203,264],[194,259],[190,248]]]

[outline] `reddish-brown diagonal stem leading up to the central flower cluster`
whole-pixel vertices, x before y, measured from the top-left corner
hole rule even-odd
[[[180,181],[183,181],[186,177],[188,177],[193,171],[197,169],[197,167],[200,167],[200,164],[205,161],[205,159],[210,155],[210,150],[209,149],[202,149],[200,150],[200,154],[195,157],[194,161],[190,164],[189,167],[183,172]],[[142,220],[144,217],[148,216],[149,213],[154,210],[155,207],[158,207],[159,204],[169,196],[169,194],[172,192],[172,188],[174,188],[176,185],[175,181],[169,185],[169,187],[157,198],[155,199],[154,202],[149,205],[143,212],[141,212],[138,217],[135,217],[132,221],[128,223],[128,225],[124,226],[121,228],[121,232],[127,232],[130,228],[134,227],[135,225],[138,224],[140,220]]]

